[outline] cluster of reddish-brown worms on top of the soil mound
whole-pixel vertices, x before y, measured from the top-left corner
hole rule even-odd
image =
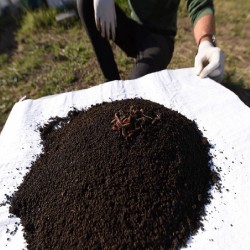
[[[117,131],[124,139],[130,139],[140,132],[146,132],[149,125],[161,120],[161,115],[155,117],[146,115],[143,109],[131,106],[128,112],[122,110],[115,113],[115,118],[111,121],[112,130]]]

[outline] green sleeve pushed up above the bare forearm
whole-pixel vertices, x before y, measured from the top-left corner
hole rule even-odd
[[[187,0],[187,10],[195,25],[201,17],[214,13],[213,0]]]

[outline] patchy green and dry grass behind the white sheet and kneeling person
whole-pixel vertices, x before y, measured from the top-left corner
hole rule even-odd
[[[118,2],[129,14],[127,2]],[[215,0],[215,8],[218,46],[226,55],[223,84],[238,94],[249,94],[250,2]],[[0,18],[0,131],[13,105],[23,96],[39,98],[104,81],[79,19],[58,23],[57,13],[41,8],[26,10],[15,19]],[[192,67],[196,53],[184,0],[178,28],[170,69]],[[9,40],[4,43],[2,38]],[[120,74],[126,79],[133,60],[113,46]],[[246,97],[242,99],[247,102]]]

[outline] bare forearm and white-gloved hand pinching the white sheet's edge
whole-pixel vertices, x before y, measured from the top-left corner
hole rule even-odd
[[[224,54],[215,44],[214,14],[204,15],[194,25],[194,38],[198,46],[195,73],[221,82],[224,74]]]

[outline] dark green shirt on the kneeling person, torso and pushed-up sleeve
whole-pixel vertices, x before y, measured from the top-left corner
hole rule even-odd
[[[180,0],[128,0],[131,17],[149,29],[175,37]],[[213,0],[186,0],[191,21],[214,12]]]

